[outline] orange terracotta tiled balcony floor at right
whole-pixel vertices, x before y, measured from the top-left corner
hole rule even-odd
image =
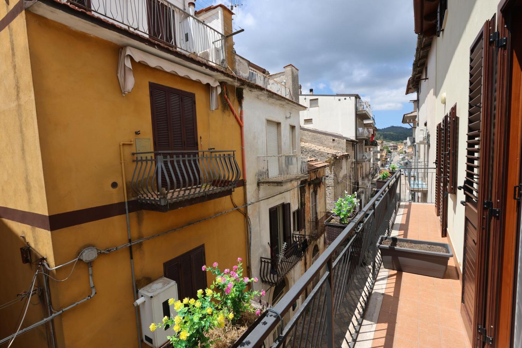
[[[433,204],[401,207],[398,237],[446,242]],[[371,347],[470,347],[453,259],[444,279],[381,270],[386,285]]]

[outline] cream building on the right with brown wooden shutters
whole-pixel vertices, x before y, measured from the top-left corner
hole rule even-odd
[[[435,163],[471,346],[522,344],[520,2],[414,1],[414,161]],[[405,115],[406,117],[406,115]],[[413,142],[412,142],[413,143]]]

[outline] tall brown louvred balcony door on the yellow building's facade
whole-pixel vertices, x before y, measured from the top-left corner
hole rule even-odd
[[[154,149],[164,152],[159,187],[176,190],[199,185],[195,95],[154,83],[149,83],[149,92]]]

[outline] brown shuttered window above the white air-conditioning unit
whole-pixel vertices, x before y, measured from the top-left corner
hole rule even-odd
[[[205,245],[201,245],[163,263],[163,275],[177,283],[180,298],[195,297],[198,289],[207,287],[207,273],[201,270],[204,264]]]

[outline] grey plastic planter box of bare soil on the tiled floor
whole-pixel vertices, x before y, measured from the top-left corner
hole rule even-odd
[[[393,242],[409,242],[417,245],[424,244],[440,246],[446,248],[447,252],[435,252],[382,245],[382,242],[385,240],[391,240]],[[448,260],[453,257],[452,249],[448,243],[426,240],[381,236],[377,241],[377,248],[381,250],[383,266],[385,269],[437,278],[444,278],[444,273],[446,273],[446,269],[448,268]]]

